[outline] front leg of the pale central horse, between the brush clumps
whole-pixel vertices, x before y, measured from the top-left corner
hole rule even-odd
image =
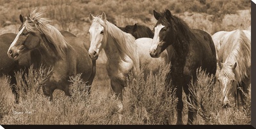
[[[115,92],[116,97],[118,97],[117,113],[118,113],[119,121],[121,121],[122,114],[123,114],[123,104],[122,104],[123,93],[122,93],[122,91],[123,91],[124,86],[120,85],[120,83],[113,81],[113,80],[111,80],[110,83],[111,83],[112,90]]]

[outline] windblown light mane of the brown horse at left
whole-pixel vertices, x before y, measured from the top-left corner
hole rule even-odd
[[[36,10],[32,11],[24,22],[24,27],[28,32],[42,32],[49,43],[54,45],[56,55],[58,55],[59,58],[64,58],[65,49],[72,47],[67,43],[60,31],[49,24],[51,21],[42,17],[43,14],[43,12],[36,12]]]

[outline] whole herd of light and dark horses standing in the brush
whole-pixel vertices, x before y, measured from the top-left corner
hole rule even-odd
[[[108,22],[104,12],[97,16],[90,13],[89,44],[85,37],[58,31],[42,15],[36,10],[28,17],[20,15],[18,34],[0,36],[0,74],[11,76],[15,103],[19,103],[15,71],[28,71],[31,65],[35,69],[41,64],[52,67],[51,76],[42,86],[44,95],[52,100],[54,90],[60,89],[70,96],[69,77],[81,74],[90,87],[97,70],[96,60],[103,49],[111,88],[119,98],[117,112],[120,119],[123,89],[127,79],[131,79],[127,77],[132,74],[136,79],[142,67],[145,76],[150,71],[156,73],[161,64],[171,64],[166,76],[166,90],[175,89],[178,98],[177,125],[183,124],[182,89],[188,102],[196,104],[189,84],[196,82],[196,71],[200,67],[218,80],[223,92],[220,98],[223,106],[229,105],[228,97],[233,96],[238,101],[239,95],[244,104],[244,93],[248,93],[250,86],[250,28],[220,31],[211,36],[205,31],[191,29],[170,10],[154,10],[157,22],[153,30],[138,24],[118,27]],[[196,111],[189,107],[187,124],[193,124],[195,118]]]

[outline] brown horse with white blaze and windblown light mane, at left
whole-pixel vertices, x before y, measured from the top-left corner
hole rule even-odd
[[[88,56],[86,48],[81,47],[85,39],[63,37],[60,31],[49,24],[49,20],[42,17],[42,14],[35,10],[29,14],[27,20],[20,17],[23,24],[10,45],[8,56],[13,60],[19,60],[29,51],[39,51],[40,62],[47,67],[53,67],[51,76],[42,87],[44,95],[50,97],[50,100],[56,89],[63,90],[65,95],[70,96],[70,76],[81,74],[86,85],[92,85],[95,64]]]

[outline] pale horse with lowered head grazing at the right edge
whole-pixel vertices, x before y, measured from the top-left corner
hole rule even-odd
[[[214,34],[212,37],[217,36]],[[220,39],[220,48],[217,51],[218,65],[220,66],[218,81],[222,89],[221,102],[223,107],[230,106],[228,99],[230,95],[237,96],[237,104],[239,105],[239,94],[244,105],[244,98],[246,98],[244,93],[248,94],[248,87],[251,82],[250,37],[250,31],[237,29],[226,32]],[[237,90],[237,88],[241,88],[243,91]]]

